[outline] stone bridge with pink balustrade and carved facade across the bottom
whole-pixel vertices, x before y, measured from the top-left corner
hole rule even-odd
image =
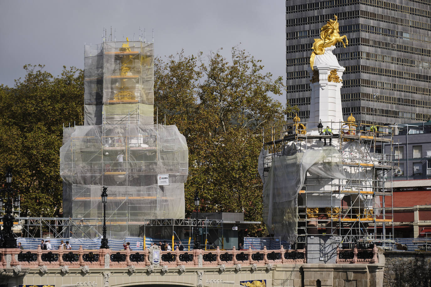
[[[157,250],[157,248],[156,248]],[[0,287],[382,286],[379,251],[338,250],[335,264],[306,250],[152,251],[1,249]],[[384,256],[383,256],[384,257]],[[156,256],[155,256],[156,258]],[[154,263],[156,262],[156,263]],[[253,282],[254,281],[254,282]],[[257,282],[256,282],[257,281]],[[249,282],[249,283],[247,283]]]

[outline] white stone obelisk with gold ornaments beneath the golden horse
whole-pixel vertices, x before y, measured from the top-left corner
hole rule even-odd
[[[340,89],[344,67],[340,66],[332,53],[335,46],[325,48],[323,55],[316,55],[310,74],[311,102],[308,122],[317,126],[320,120],[324,125],[343,121]],[[318,73],[318,74],[317,74]],[[317,77],[319,75],[319,77]]]

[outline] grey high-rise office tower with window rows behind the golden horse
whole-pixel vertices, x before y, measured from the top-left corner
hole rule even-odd
[[[320,27],[337,15],[349,44],[334,54],[343,73],[344,120],[412,123],[431,115],[431,0],[287,0],[287,101],[309,117],[306,71]],[[295,115],[288,115],[294,117]]]

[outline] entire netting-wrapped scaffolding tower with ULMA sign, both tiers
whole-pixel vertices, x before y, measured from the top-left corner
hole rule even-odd
[[[106,186],[112,237],[137,236],[144,218],[184,218],[187,142],[154,124],[153,83],[153,43],[85,45],[84,126],[64,128],[60,148],[64,216],[102,218]]]

